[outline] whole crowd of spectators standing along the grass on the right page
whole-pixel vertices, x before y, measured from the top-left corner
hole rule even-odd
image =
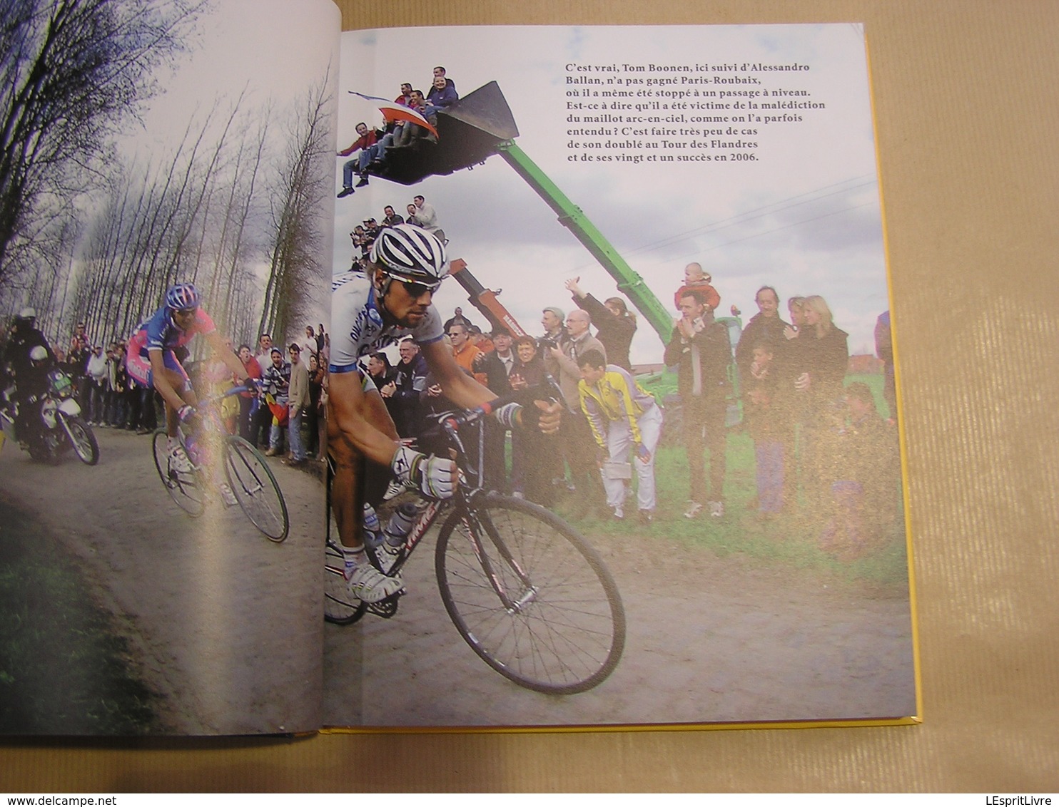
[[[580,278],[566,288],[573,307],[543,309],[540,336],[483,331],[462,308],[445,323],[456,363],[490,390],[528,405],[560,396],[566,403],[558,435],[511,433],[509,462],[503,430],[487,420],[487,487],[545,507],[573,493],[582,512],[617,520],[635,515],[651,524],[654,458],[671,419],[668,428],[679,433],[675,442],[687,461],[682,515],[720,524],[731,487],[728,438],[741,404],[754,448],[755,519],[797,516],[815,525],[822,546],[844,556],[873,546],[893,524],[899,485],[894,418],[878,414],[867,387],[844,386],[847,334],[823,297],[791,297],[788,322],[776,290],[762,287],[758,311],[736,342],[715,313],[721,297],[712,278],[698,263],[688,264],[675,295],[679,314],[660,355],[676,370],[679,393],[665,411],[633,374],[629,346],[636,318],[626,301],[600,302]],[[879,323],[878,352],[892,367],[889,313]],[[396,366],[378,353],[365,369],[402,437],[419,439],[429,416],[448,408],[411,341],[401,343]],[[896,414],[891,388],[885,398]]]

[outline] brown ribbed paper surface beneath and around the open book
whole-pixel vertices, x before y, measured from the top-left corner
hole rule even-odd
[[[925,722],[3,740],[0,791],[1059,790],[1059,4],[338,4],[346,27],[865,23],[909,445]]]

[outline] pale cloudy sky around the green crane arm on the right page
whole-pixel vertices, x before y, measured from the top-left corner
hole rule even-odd
[[[756,125],[754,163],[592,164],[568,161],[568,63],[689,62],[808,65],[771,88],[809,90],[824,110],[793,111],[800,124]],[[737,305],[756,313],[761,285],[780,298],[821,294],[849,332],[851,352],[873,350],[878,314],[889,308],[876,154],[863,30],[860,25],[451,27],[348,32],[342,36],[339,146],[356,139],[358,121],[380,123],[347,90],[393,98],[402,81],[429,89],[444,65],[466,94],[497,80],[518,124],[517,142],[607,236],[667,306],[683,268],[699,261],[721,294],[718,313]],[[647,75],[665,75],[648,73]],[[762,74],[758,74],[762,75]],[[787,74],[788,76],[790,74]],[[336,160],[340,180],[341,159]],[[339,182],[340,184],[340,182]],[[365,192],[370,191],[370,192]],[[406,187],[374,180],[337,203],[335,267],[348,267],[348,232],[384,204],[403,214],[421,194],[483,285],[502,288],[507,308],[533,333],[541,308],[572,306],[562,286],[604,298],[615,283],[555,215],[500,158],[473,171],[431,177]],[[445,316],[463,290],[436,295]],[[474,312],[470,312],[472,317]],[[676,311],[674,312],[676,315]],[[481,317],[480,317],[481,318]],[[659,361],[661,343],[641,323],[633,361]]]

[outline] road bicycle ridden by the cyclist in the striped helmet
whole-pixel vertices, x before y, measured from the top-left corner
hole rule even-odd
[[[456,630],[486,664],[537,692],[572,694],[596,686],[617,666],[625,647],[625,610],[617,586],[596,551],[562,518],[523,499],[484,490],[482,409],[441,417],[455,450],[461,484],[451,499],[405,491],[379,517],[406,501],[418,512],[390,574],[400,571],[427,531],[442,521],[434,571],[442,602]],[[478,423],[478,462],[466,461],[457,429]],[[330,514],[331,469],[327,509]],[[325,619],[340,625],[365,612],[389,619],[398,595],[366,604],[351,597],[342,553],[328,517]],[[375,552],[365,540],[372,563]]]

